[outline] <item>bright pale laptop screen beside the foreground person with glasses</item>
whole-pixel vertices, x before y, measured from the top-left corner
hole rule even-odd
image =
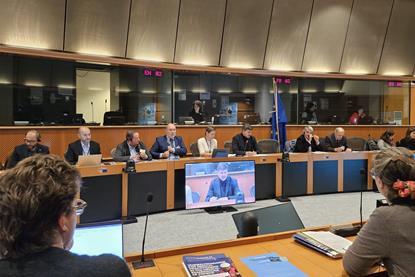
[[[76,228],[71,252],[79,255],[114,254],[123,257],[123,225]]]

